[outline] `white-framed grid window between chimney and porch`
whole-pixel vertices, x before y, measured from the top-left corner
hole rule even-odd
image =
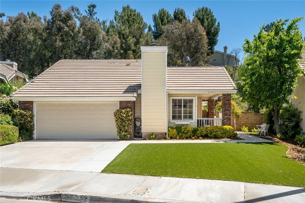
[[[194,98],[171,98],[170,120],[194,120]]]

